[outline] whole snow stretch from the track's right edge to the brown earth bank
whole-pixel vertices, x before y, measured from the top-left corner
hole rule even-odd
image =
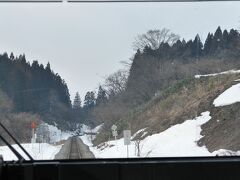
[[[215,156],[218,152],[210,153],[206,147],[199,147],[196,142],[200,135],[201,125],[211,119],[210,112],[174,125],[167,130],[147,136],[140,143],[141,157],[179,157],[179,156]],[[141,130],[142,132],[143,130]],[[90,146],[96,158],[126,158],[127,146],[123,138],[102,143],[93,147],[88,135],[80,136],[83,142]],[[136,157],[133,141],[128,146],[129,157]]]

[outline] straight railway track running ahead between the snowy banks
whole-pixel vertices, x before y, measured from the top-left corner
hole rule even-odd
[[[77,141],[77,137],[71,137],[70,140],[70,150],[68,154],[68,159],[81,159],[80,146]]]

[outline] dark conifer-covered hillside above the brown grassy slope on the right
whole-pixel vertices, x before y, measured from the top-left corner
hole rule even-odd
[[[196,35],[194,40],[178,40],[172,46],[146,46],[135,54],[126,91],[136,104],[146,102],[157,91],[186,77],[237,68],[239,50],[238,31],[222,32],[220,27],[208,34],[204,44]]]

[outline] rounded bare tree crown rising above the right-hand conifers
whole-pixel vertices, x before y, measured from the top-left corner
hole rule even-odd
[[[133,42],[134,50],[143,50],[146,46],[151,47],[152,49],[158,49],[161,43],[168,43],[172,45],[180,36],[172,33],[169,29],[154,29],[149,30],[145,34],[138,35]]]

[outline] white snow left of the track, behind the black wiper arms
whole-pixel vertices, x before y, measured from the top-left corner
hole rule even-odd
[[[60,151],[62,145],[54,146],[47,143],[21,144],[24,149],[33,157],[33,159],[54,159],[54,156]],[[27,156],[17,145],[13,147],[25,158]],[[0,154],[5,161],[17,160],[17,157],[7,146],[0,146]]]

